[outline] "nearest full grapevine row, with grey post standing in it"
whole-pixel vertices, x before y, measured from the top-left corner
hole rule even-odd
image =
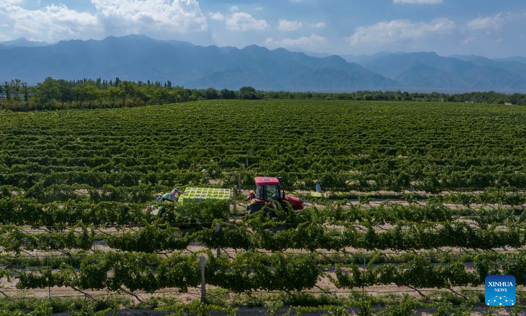
[[[524,253],[510,254],[502,260],[495,260],[491,254],[480,254],[474,260],[473,270],[459,261],[434,266],[428,258],[419,256],[399,265],[388,263],[373,267],[372,263],[365,270],[356,264],[338,265],[335,274],[331,274],[325,272],[313,253],[285,256],[248,251],[232,260],[226,256],[215,258],[208,253],[205,279],[207,284],[236,293],[301,291],[313,288],[324,276],[338,288],[351,289],[392,283],[414,288],[476,287],[484,283],[488,274],[512,274],[517,284],[526,284]],[[17,279],[18,289],[76,287],[118,291],[126,288],[153,293],[164,288],[186,292],[200,284],[197,254],[161,258],[144,253],[96,253],[86,257],[78,269],[64,263],[55,270],[13,269],[4,270],[3,275]]]

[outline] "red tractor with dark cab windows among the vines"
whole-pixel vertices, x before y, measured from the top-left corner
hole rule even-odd
[[[289,207],[293,210],[304,208],[303,201],[300,198],[285,196],[285,191],[280,189],[278,178],[256,177],[254,181],[256,182],[256,190],[250,190],[248,197],[247,211],[249,214],[259,211],[265,206],[269,209],[276,209],[276,203],[279,203],[284,210],[288,210]]]

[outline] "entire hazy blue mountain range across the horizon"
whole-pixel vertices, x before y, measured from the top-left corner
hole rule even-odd
[[[261,90],[295,91],[526,91],[526,58],[519,56],[443,57],[432,52],[337,56],[257,45],[242,49],[205,47],[129,35],[56,44],[26,39],[0,42],[0,60],[5,62],[1,81],[20,78],[29,84],[46,77],[119,77],[170,80],[189,88],[238,89],[250,85]]]

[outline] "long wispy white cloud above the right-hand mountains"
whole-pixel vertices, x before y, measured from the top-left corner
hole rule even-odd
[[[434,19],[429,23],[398,19],[357,27],[355,33],[346,39],[351,45],[384,45],[401,40],[421,39],[434,34],[447,34],[455,28],[455,23],[448,18]]]

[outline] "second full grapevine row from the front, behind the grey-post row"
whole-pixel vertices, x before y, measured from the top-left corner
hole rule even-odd
[[[0,246],[6,251],[22,250],[89,250],[93,240],[102,238],[119,250],[160,252],[186,249],[191,242],[208,248],[343,250],[358,248],[366,250],[418,250],[442,247],[491,250],[503,247],[521,248],[526,245],[524,232],[510,227],[508,230],[474,228],[466,223],[446,223],[442,227],[397,226],[385,231],[355,227],[345,230],[327,229],[319,223],[302,223],[287,230],[271,231],[221,223],[220,230],[203,228],[194,233],[184,233],[169,225],[146,225],[137,231],[123,235],[96,234],[93,228],[82,224],[65,232],[25,232],[16,226],[4,226],[0,230]],[[75,230],[82,232],[77,233]]]

